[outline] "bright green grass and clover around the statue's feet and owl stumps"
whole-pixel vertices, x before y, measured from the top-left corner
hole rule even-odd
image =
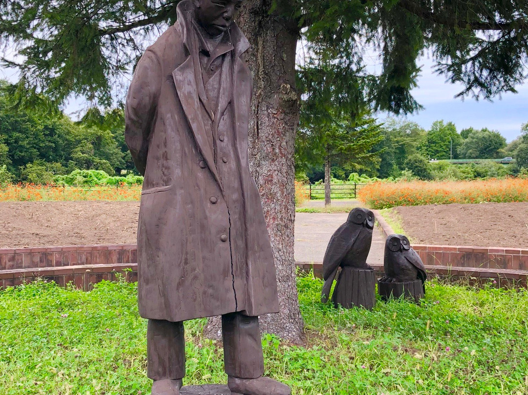
[[[435,280],[421,306],[378,301],[369,312],[321,304],[321,287],[298,278],[305,345],[263,336],[266,374],[294,394],[528,393],[525,289]],[[136,297],[135,284],[109,282],[88,293],[42,282],[0,291],[0,392],[149,393]],[[226,380],[204,322],[185,324],[185,383]]]

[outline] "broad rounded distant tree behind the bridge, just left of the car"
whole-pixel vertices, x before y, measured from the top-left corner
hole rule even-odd
[[[465,129],[467,130],[467,129]],[[457,148],[458,157],[466,159],[496,159],[506,155],[506,138],[498,131],[471,129]]]

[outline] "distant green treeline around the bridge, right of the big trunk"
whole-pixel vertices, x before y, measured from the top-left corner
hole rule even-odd
[[[422,180],[473,180],[501,178],[528,174],[528,124],[510,144],[496,130],[456,126],[435,121],[429,130],[409,121],[389,119],[382,126],[383,140],[372,148],[378,153],[371,168],[332,166],[332,177],[347,180],[353,172],[379,178],[420,178]],[[429,163],[431,159],[498,159],[511,156],[515,163],[502,165],[484,162],[454,165],[446,162]],[[324,178],[324,169],[311,167],[305,174],[311,182]]]

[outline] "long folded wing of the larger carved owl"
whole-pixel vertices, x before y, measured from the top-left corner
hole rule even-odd
[[[344,223],[332,235],[323,258],[323,279],[325,284],[321,291],[321,302],[327,302],[337,269],[348,251],[354,246],[361,229],[361,225],[351,227],[351,224]]]

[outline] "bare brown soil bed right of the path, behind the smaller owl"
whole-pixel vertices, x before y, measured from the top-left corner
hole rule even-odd
[[[416,244],[528,247],[528,203],[439,204],[396,211]]]

